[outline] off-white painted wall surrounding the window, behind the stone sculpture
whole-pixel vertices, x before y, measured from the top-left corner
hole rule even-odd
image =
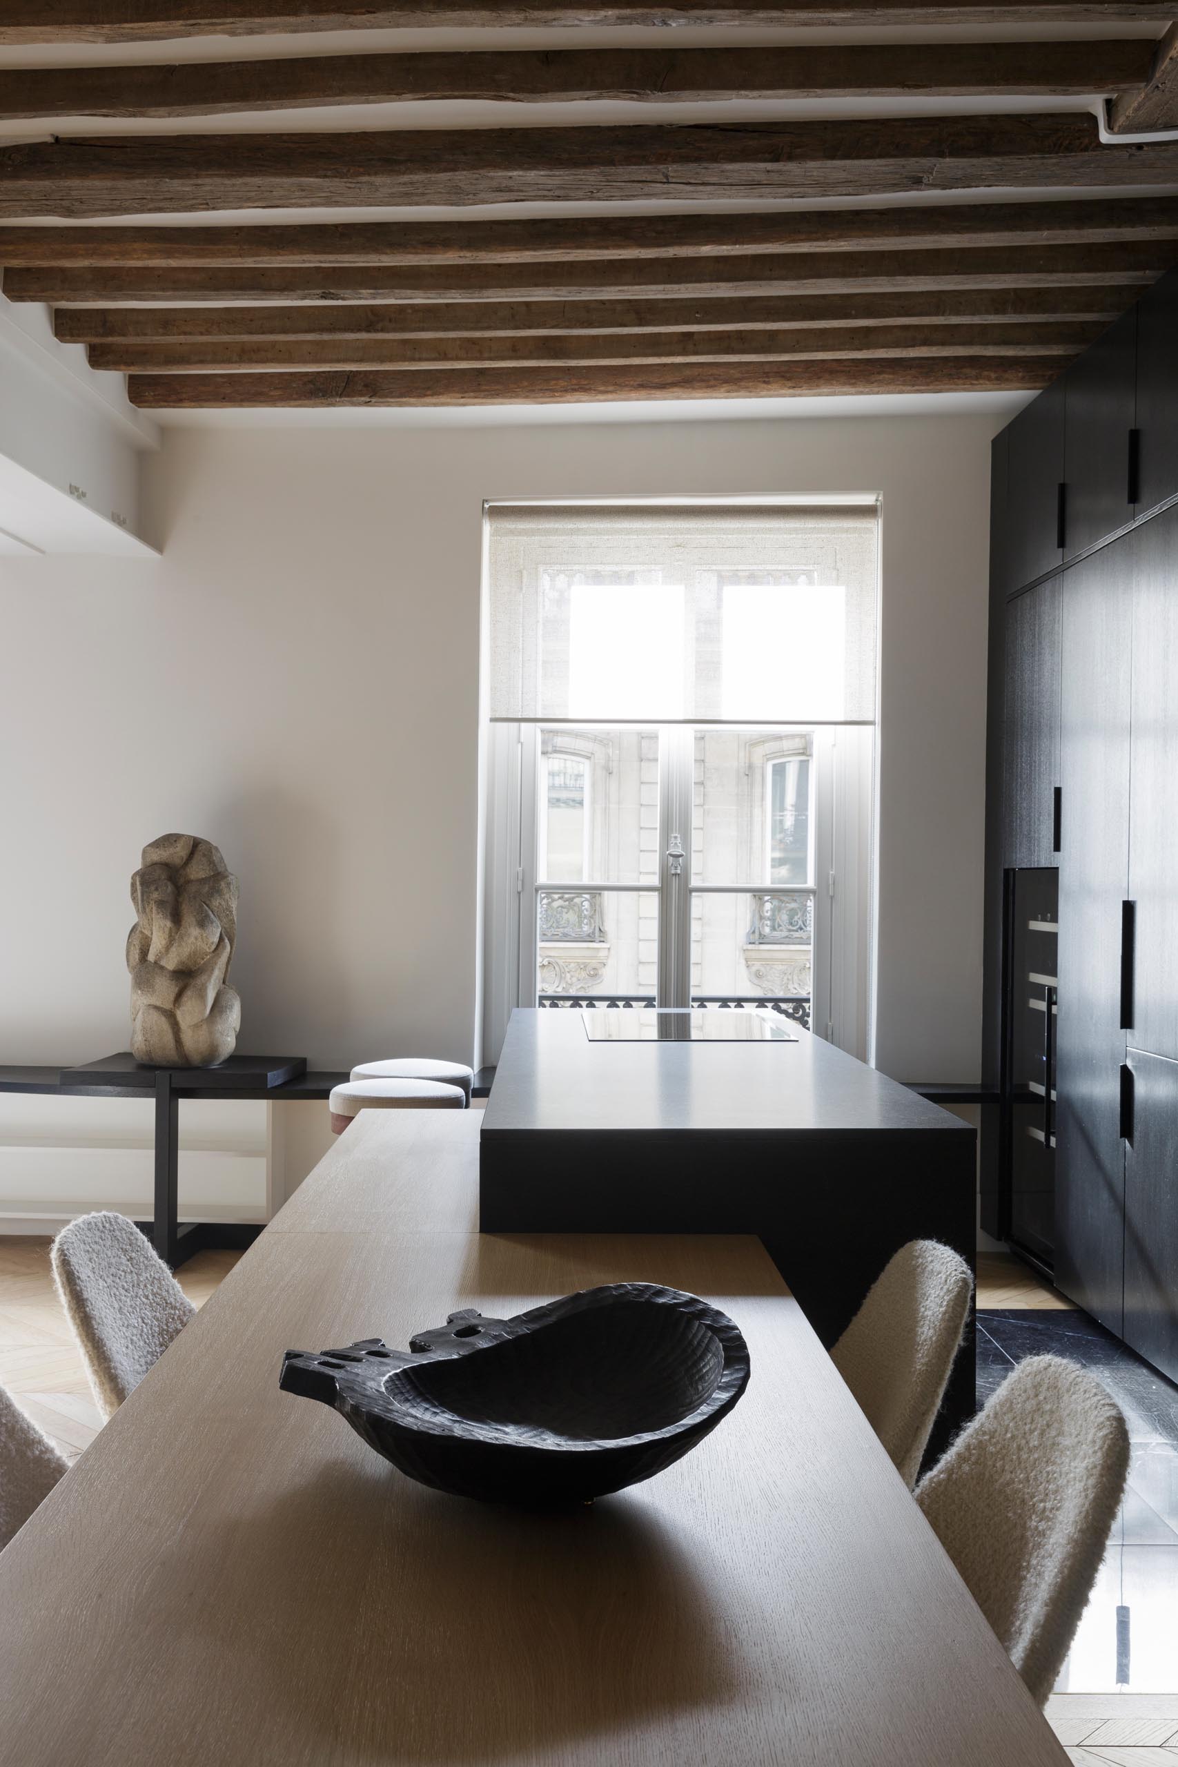
[[[975,1076],[1003,421],[168,431],[161,560],[0,558],[0,1060],[125,1044],[127,880],[170,829],[240,876],[244,1048],[470,1058],[482,500],[878,491],[878,1060]]]

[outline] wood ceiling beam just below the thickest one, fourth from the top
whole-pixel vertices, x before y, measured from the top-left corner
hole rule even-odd
[[[586,216],[576,221],[369,221],[318,226],[9,226],[5,269],[281,267],[691,258],[885,246],[1049,246],[1178,239],[1178,198],[917,203],[772,214]]]

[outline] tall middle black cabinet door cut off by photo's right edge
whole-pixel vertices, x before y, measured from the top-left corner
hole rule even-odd
[[[1178,507],[1143,521],[1134,548],[1129,1041],[1178,1060]]]

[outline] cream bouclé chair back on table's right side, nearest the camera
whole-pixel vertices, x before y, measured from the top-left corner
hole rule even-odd
[[[1129,1430],[1095,1375],[1035,1355],[917,1490],[1040,1705],[1072,1647],[1127,1472]]]

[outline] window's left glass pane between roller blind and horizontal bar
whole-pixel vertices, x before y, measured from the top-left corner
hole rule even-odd
[[[540,728],[537,884],[659,882],[659,732]]]

